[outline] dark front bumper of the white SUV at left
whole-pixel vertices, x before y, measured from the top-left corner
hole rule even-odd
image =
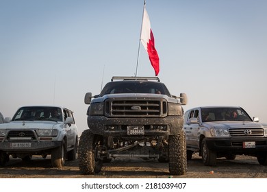
[[[2,152],[43,152],[49,149],[60,147],[62,141],[41,141],[41,142],[1,142],[0,151]]]

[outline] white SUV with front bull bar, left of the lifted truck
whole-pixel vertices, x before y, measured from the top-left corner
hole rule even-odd
[[[77,126],[73,112],[58,106],[24,106],[9,123],[0,124],[0,166],[9,156],[31,160],[32,155],[46,158],[52,167],[77,159]]]

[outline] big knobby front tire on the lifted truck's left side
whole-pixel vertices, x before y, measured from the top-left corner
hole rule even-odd
[[[99,173],[103,160],[97,158],[97,149],[101,146],[101,136],[92,134],[90,130],[84,130],[79,139],[78,160],[79,170],[83,174]]]

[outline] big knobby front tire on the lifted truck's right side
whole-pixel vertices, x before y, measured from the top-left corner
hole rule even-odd
[[[169,171],[171,175],[183,175],[187,171],[186,135],[181,131],[168,139]]]

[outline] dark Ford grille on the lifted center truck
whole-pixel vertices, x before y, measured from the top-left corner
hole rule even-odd
[[[107,117],[165,117],[167,102],[164,99],[109,99],[105,101]]]

